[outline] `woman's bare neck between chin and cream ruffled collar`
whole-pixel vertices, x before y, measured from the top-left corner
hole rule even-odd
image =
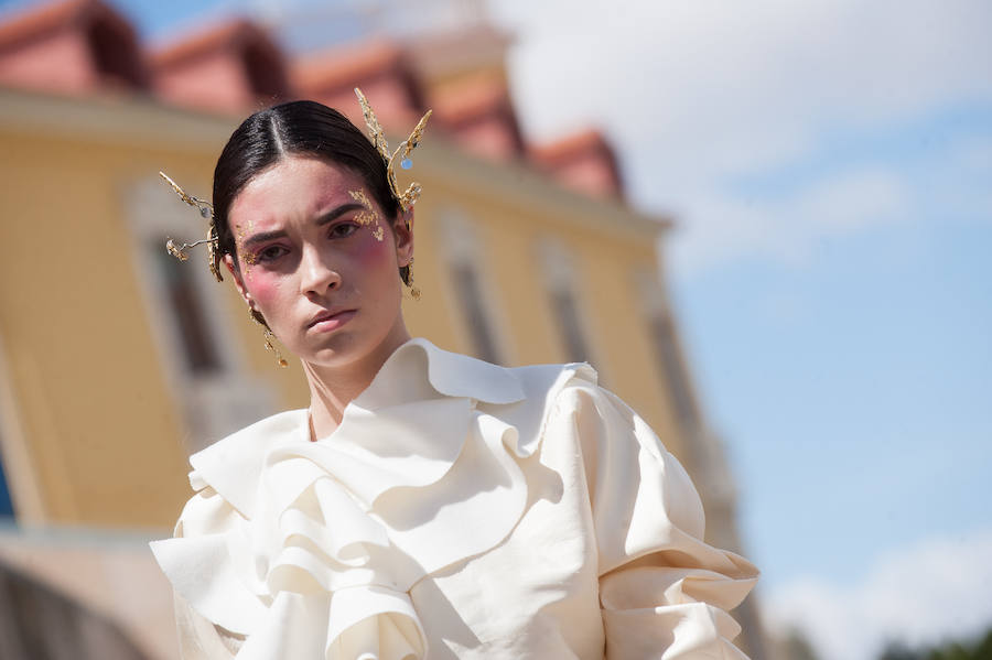
[[[389,356],[409,339],[410,333],[400,323],[368,355],[346,366],[303,363],[310,387],[311,440],[326,437],[337,429],[347,404],[368,388]]]

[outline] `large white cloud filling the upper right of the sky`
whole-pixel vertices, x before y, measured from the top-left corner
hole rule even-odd
[[[873,185],[883,210],[906,204],[895,172],[835,173],[810,185],[809,199],[768,207],[726,193],[726,177],[812,158],[827,130],[870,132],[955,104],[992,102],[984,0],[490,7],[517,34],[511,84],[525,131],[547,140],[605,128],[634,202],[671,210],[683,226],[675,245],[681,269],[742,256],[801,259],[838,224],[854,230],[881,217],[864,206]],[[818,196],[824,191],[854,197],[831,202]],[[831,214],[831,204],[862,207]],[[783,221],[805,207],[811,215]]]

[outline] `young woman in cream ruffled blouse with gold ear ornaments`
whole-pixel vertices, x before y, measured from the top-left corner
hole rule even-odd
[[[378,134],[296,101],[217,162],[212,264],[311,403],[191,457],[153,543],[184,658],[743,658],[725,610],[755,569],[702,541],[684,470],[592,368],[410,338],[417,191]]]

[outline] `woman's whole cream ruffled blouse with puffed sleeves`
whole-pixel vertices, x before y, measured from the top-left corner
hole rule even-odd
[[[412,339],[330,436],[298,410],[194,454],[152,543],[184,658],[743,658],[757,572],[595,379]]]

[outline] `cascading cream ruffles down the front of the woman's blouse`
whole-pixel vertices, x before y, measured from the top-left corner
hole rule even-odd
[[[180,538],[155,542],[153,551],[196,612],[247,637],[239,660],[424,658],[427,636],[409,589],[490,550],[524,515],[528,488],[517,461],[539,439],[519,437],[476,399],[438,396],[457,393],[459,383],[444,381],[443,370],[435,378],[431,353],[443,351],[424,344],[400,348],[376,381],[409,374],[403,363],[427,356],[434,398],[377,398],[374,382],[320,442],[309,442],[305,412],[293,411],[192,459],[201,499],[184,510]],[[478,369],[473,378],[486,376]],[[521,399],[511,386],[502,383],[493,399]],[[203,502],[214,491],[238,513],[220,531],[182,535],[183,524],[211,515]]]

